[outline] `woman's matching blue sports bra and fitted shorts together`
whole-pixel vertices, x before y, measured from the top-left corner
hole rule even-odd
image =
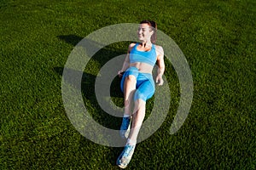
[[[137,50],[138,45],[139,43],[136,43],[136,45],[131,49],[130,63],[143,62],[154,66],[156,62],[156,51],[154,44],[152,44],[152,48],[150,51],[145,52]],[[124,92],[125,77],[128,77],[129,75],[133,75],[137,79],[137,90],[134,94],[134,100],[143,99],[144,101],[146,101],[154,95],[155,88],[152,74],[140,72],[138,71],[137,67],[134,66],[129,67],[122,77],[122,92]]]

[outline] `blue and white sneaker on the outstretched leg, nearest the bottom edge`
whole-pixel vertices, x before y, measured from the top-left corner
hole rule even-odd
[[[135,146],[134,145],[130,145],[130,144],[126,144],[125,145],[125,149],[122,151],[122,153],[120,154],[116,164],[121,167],[121,168],[125,168],[128,166],[129,162],[131,161],[131,156],[133,155],[133,152],[135,150]]]

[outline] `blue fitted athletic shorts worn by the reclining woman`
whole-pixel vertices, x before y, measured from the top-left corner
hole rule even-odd
[[[154,80],[150,73],[142,73],[139,72],[137,67],[130,67],[128,68],[121,80],[121,90],[124,93],[124,83],[125,78],[128,76],[134,76],[136,77],[137,83],[136,83],[136,92],[134,94],[134,100],[137,99],[143,99],[146,101],[147,99],[150,99],[154,95]]]

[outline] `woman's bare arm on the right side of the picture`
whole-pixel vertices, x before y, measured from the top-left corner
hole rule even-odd
[[[157,77],[156,77],[156,80],[155,82],[158,83],[158,85],[163,85],[164,83],[164,80],[163,80],[163,74],[165,72],[165,60],[164,60],[164,50],[162,47],[158,46],[157,48],[157,65],[159,66],[158,67],[158,70],[157,70]]]

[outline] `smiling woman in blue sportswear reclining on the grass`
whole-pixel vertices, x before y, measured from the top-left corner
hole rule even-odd
[[[122,70],[118,72],[121,90],[125,97],[125,113],[120,127],[120,135],[128,138],[125,149],[120,154],[117,165],[127,167],[137,144],[137,135],[143,124],[146,101],[154,95],[152,71],[158,65],[156,82],[162,85],[165,71],[163,48],[155,45],[157,26],[154,21],[143,20],[137,31],[139,43],[131,43]],[[132,110],[132,105],[134,105]],[[131,123],[132,119],[132,123]],[[131,126],[131,132],[130,132]]]

